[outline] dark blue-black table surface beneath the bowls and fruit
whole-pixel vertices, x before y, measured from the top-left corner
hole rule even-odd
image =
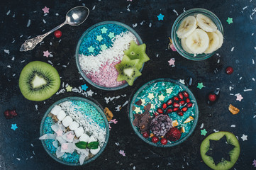
[[[232,169],[255,169],[252,165],[256,159],[255,0],[17,0],[0,2],[0,5],[0,169],[208,169],[199,150],[205,138],[201,135],[203,129],[207,135],[217,130],[233,132],[238,137],[241,152]],[[46,33],[64,22],[65,13],[80,5],[90,9],[89,18],[81,26],[64,26],[60,29],[60,39],[50,34],[34,50],[19,52],[26,39]],[[50,10],[44,16],[42,8],[45,6]],[[223,24],[223,46],[208,60],[190,61],[167,49],[177,13],[189,8],[206,8]],[[160,13],[164,15],[163,21],[157,19]],[[233,18],[233,23],[228,24],[228,17]],[[150,61],[145,63],[143,75],[133,86],[117,91],[96,89],[78,72],[74,53],[79,37],[87,28],[101,21],[126,23],[147,45]],[[43,56],[46,50],[52,57]],[[175,60],[174,67],[169,66],[171,58]],[[113,118],[118,123],[111,124],[108,145],[94,162],[84,166],[65,166],[55,162],[43,149],[38,137],[45,111],[61,98],[87,96],[65,91],[45,101],[28,101],[18,88],[18,77],[21,69],[35,60],[51,63],[60,74],[61,84],[77,88],[87,84],[87,91],[94,92],[92,98],[103,108],[113,111]],[[225,73],[228,66],[233,67],[233,74]],[[189,89],[199,105],[196,129],[188,140],[175,147],[157,148],[145,144],[133,132],[128,120],[128,105],[123,104],[148,81],[158,78],[186,80],[189,77],[193,78]],[[204,88],[199,89],[197,84],[201,82]],[[215,105],[208,106],[206,94],[216,88],[221,89],[221,96]],[[235,94],[241,94],[243,100],[237,101]],[[114,98],[109,103],[104,99],[116,96],[121,98]],[[239,108],[240,112],[232,115],[228,111],[229,104]],[[121,111],[117,111],[118,106],[123,106]],[[7,109],[16,109],[18,116],[6,120],[3,113]],[[11,130],[11,124],[16,124],[18,129]],[[247,140],[241,138],[244,135],[247,135]],[[118,153],[120,150],[125,151],[126,157]]]

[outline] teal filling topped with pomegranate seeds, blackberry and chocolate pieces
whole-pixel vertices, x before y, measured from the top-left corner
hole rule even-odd
[[[197,103],[191,92],[182,86],[165,79],[150,81],[133,97],[131,122],[148,143],[168,147],[194,130]]]

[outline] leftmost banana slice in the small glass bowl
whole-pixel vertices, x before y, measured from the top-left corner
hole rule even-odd
[[[178,38],[187,38],[196,28],[196,18],[194,16],[188,16],[180,23],[177,36]]]

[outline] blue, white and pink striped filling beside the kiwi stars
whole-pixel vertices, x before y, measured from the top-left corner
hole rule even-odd
[[[119,23],[105,23],[92,26],[82,37],[79,45],[79,65],[82,72],[93,84],[103,87],[116,87],[126,81],[116,81],[118,72],[115,65],[123,59],[130,42],[138,39]]]

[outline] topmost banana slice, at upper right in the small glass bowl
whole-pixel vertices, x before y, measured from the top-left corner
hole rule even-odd
[[[215,32],[217,30],[217,26],[208,16],[199,13],[196,16],[196,21],[197,25],[206,32]]]

